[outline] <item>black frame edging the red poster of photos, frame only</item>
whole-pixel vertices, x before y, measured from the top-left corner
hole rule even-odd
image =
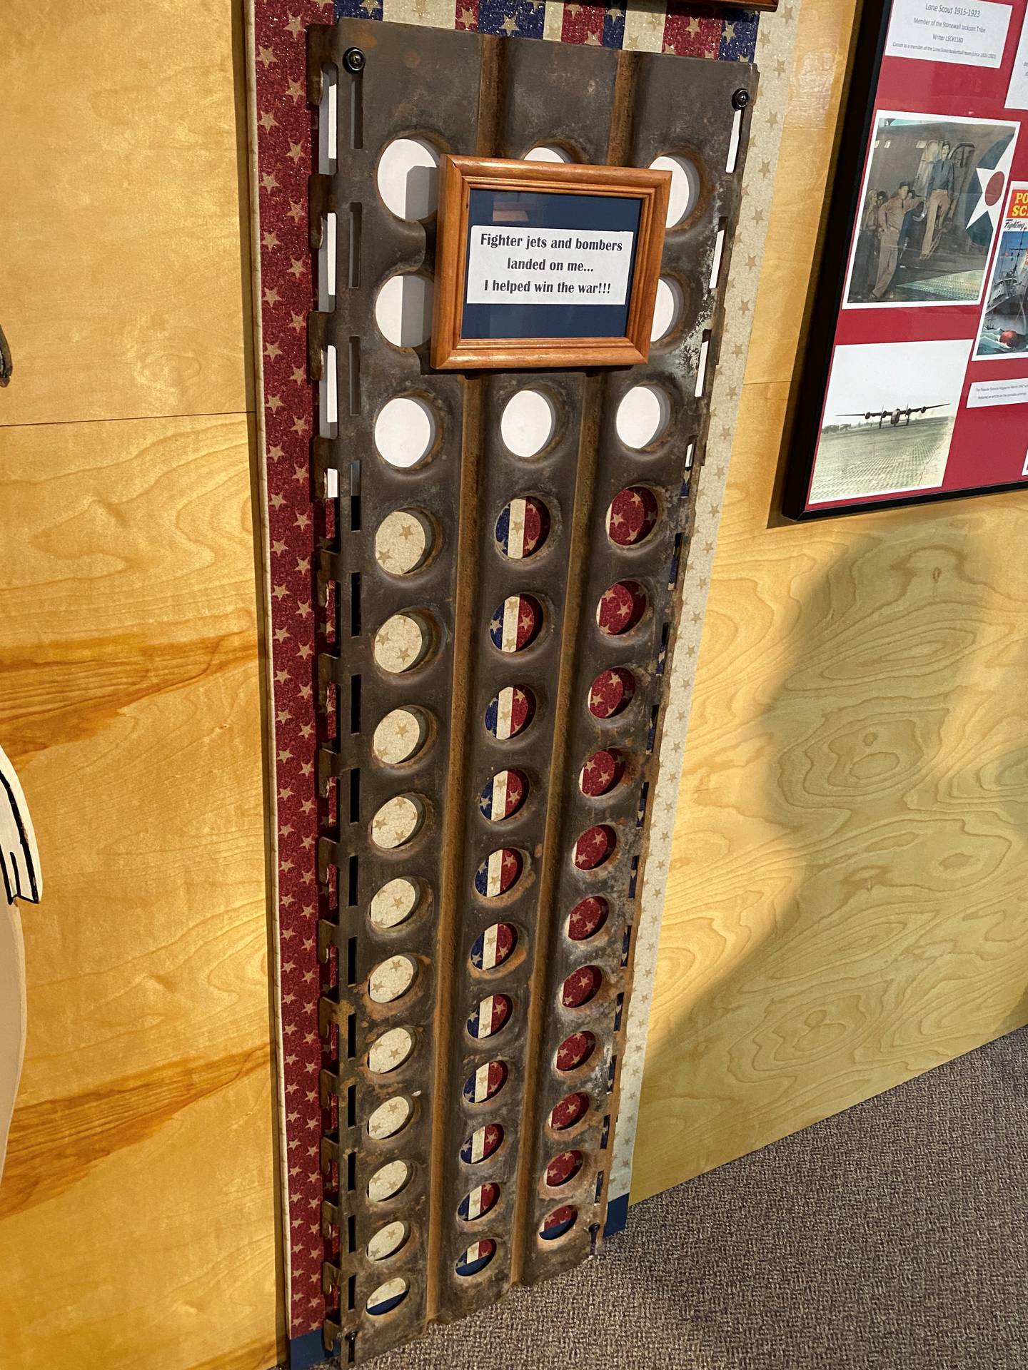
[[[785,519],[795,523],[1028,489],[1025,478],[999,485],[914,492],[894,499],[864,497],[853,504],[832,504],[827,508],[806,507],[821,436],[821,412],[828,390],[836,326],[843,307],[850,247],[861,208],[865,155],[874,119],[874,96],[891,16],[892,0],[868,0],[861,11],[850,49],[846,108],[836,140],[835,166],[831,171],[828,211],[820,234],[821,259],[807,297],[806,337],[802,340],[803,360],[794,374],[783,445],[785,471],[780,486],[780,511]]]

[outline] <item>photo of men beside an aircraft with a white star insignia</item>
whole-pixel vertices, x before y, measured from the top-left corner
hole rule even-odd
[[[977,304],[1017,127],[879,112],[844,303]]]

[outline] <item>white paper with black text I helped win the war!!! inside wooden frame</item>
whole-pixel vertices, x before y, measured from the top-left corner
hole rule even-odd
[[[467,304],[624,304],[635,233],[598,229],[469,230]]]

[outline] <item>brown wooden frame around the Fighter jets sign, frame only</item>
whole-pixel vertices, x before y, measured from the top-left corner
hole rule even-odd
[[[640,167],[444,156],[440,164],[432,366],[436,370],[480,367],[521,370],[635,366],[646,362],[650,355],[650,330],[661,274],[670,179],[669,171]],[[620,336],[583,333],[574,337],[465,337],[469,211],[474,190],[639,201],[624,332]],[[577,227],[580,232],[587,232],[589,225],[583,222]],[[537,306],[540,301],[532,300],[530,304]],[[595,306],[577,306],[580,310],[592,307]]]

